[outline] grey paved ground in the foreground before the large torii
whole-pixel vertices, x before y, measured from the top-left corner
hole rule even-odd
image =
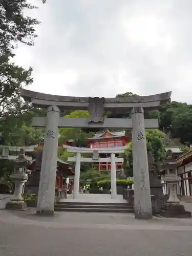
[[[35,209],[0,210],[1,256],[189,256],[191,237],[191,219],[88,212],[45,218]]]

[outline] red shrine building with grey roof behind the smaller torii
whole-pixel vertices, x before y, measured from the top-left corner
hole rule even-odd
[[[110,132],[106,130],[104,132],[98,132],[94,135],[94,137],[89,138],[86,140],[90,143],[91,148],[104,148],[104,147],[118,147],[118,146],[125,146],[127,142],[130,142],[127,137],[125,136],[125,131],[118,131],[118,132]],[[109,157],[108,154],[100,154],[100,157]],[[110,162],[95,162],[94,167],[99,169],[99,172],[103,172],[106,170],[111,170],[111,163]],[[116,163],[116,170],[117,172],[122,171],[122,162]]]

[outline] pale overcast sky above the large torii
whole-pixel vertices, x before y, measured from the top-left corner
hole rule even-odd
[[[34,69],[28,89],[104,97],[172,91],[172,100],[192,104],[192,0],[33,3],[38,38],[34,47],[19,45],[15,58]]]

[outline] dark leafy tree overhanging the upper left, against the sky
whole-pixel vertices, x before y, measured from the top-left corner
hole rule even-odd
[[[18,42],[34,44],[35,26],[39,22],[26,16],[24,10],[35,8],[27,0],[2,0],[0,3],[0,122],[31,107],[20,98],[20,89],[32,83],[32,68],[24,70],[11,61]]]

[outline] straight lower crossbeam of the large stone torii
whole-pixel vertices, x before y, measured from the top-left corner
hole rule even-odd
[[[146,129],[155,129],[159,127],[158,119],[145,119],[145,128]],[[46,118],[45,117],[33,117],[32,125],[35,127],[45,127],[46,125]],[[104,118],[103,122],[98,123],[89,123],[88,118],[65,118],[62,117],[59,119],[59,127],[63,128],[70,128],[70,127],[77,127],[77,128],[118,128],[118,129],[127,129],[132,128],[132,119],[131,118]]]

